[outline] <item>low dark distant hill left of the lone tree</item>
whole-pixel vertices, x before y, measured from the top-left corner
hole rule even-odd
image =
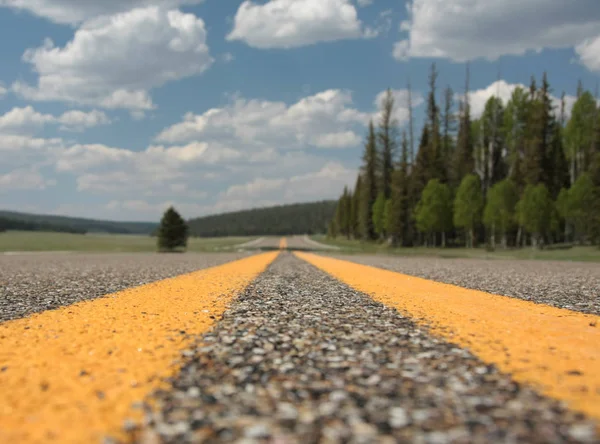
[[[112,222],[80,217],[51,216],[41,214],[0,211],[0,231],[61,231],[71,233],[151,234],[158,223]]]

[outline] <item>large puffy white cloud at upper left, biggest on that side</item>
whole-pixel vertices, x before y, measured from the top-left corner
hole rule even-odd
[[[39,75],[36,86],[13,84],[27,99],[130,110],[154,108],[150,89],[213,63],[202,19],[159,7],[91,19],[64,47],[47,40],[23,60]]]

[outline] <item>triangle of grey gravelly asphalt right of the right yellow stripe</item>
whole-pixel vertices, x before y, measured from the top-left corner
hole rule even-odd
[[[600,315],[600,264],[327,255],[446,284]]]

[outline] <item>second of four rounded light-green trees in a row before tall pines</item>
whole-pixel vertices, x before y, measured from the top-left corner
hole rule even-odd
[[[467,247],[474,247],[475,229],[481,222],[483,195],[481,182],[475,174],[469,174],[460,183],[454,199],[454,225],[467,234]]]

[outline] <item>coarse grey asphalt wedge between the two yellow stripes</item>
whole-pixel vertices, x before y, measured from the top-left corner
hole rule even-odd
[[[138,442],[599,438],[583,415],[289,253],[183,355]]]

